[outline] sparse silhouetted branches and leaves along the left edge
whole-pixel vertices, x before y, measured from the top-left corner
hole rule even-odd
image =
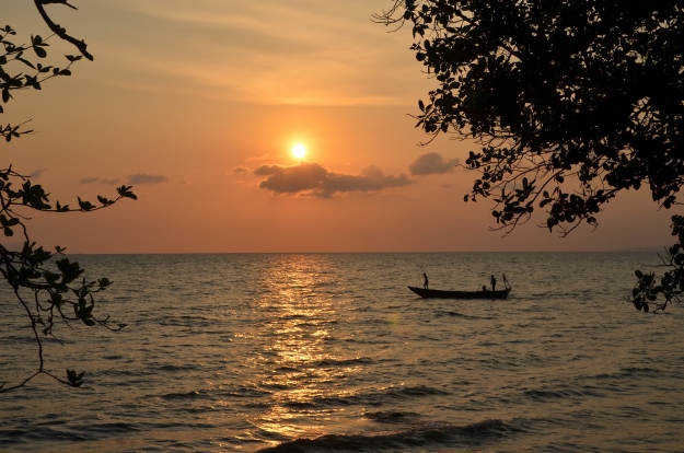
[[[0,28],[2,44],[0,113],[4,113],[4,105],[12,101],[16,93],[42,90],[43,83],[47,80],[70,76],[71,66],[80,60],[81,56],[92,60],[92,56],[85,50],[85,43],[69,36],[65,28],[51,22],[43,7],[43,3],[50,2],[55,1],[35,0],[38,12],[55,32],[50,37],[43,39],[36,35],[31,37],[30,45],[15,44],[15,31],[10,25]],[[57,3],[66,4],[63,1]],[[61,68],[38,62],[47,57],[48,40],[54,36],[74,44],[81,55],[66,56],[66,65]],[[32,130],[23,128],[25,123],[0,125],[0,135],[10,142],[12,139],[31,133]],[[26,228],[30,218],[25,212],[27,210],[89,212],[109,207],[121,198],[136,199],[130,186],[118,187],[117,196],[112,199],[97,196],[96,204],[79,197],[78,207],[62,205],[59,201],[53,205],[49,194],[40,185],[33,184],[27,176],[15,172],[12,165],[0,170],[0,230],[5,237],[12,237],[15,233],[23,236],[23,247],[20,251],[12,251],[0,244],[0,275],[15,294],[19,309],[25,313],[38,348],[37,371],[9,386],[0,382],[0,393],[21,387],[38,374],[50,375],[59,382],[77,387],[83,383],[83,372],[67,370],[66,379],[60,379],[45,369],[43,339],[51,337],[58,340],[54,329],[59,320],[69,326],[72,322],[81,322],[86,326],[100,325],[111,330],[124,327],[124,324],[112,325],[108,316],[101,317],[94,310],[94,294],[104,291],[111,281],[107,278],[88,281],[82,278],[84,270],[80,265],[62,256],[63,248],[56,246],[55,252],[49,252],[32,242]]]

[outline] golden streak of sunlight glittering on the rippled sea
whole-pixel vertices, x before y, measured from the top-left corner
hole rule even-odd
[[[312,423],[310,406],[316,400],[353,393],[329,388],[340,373],[352,372],[353,368],[321,367],[325,361],[340,359],[328,346],[327,325],[341,315],[332,300],[312,295],[314,288],[324,282],[324,266],[317,255],[282,260],[268,278],[270,294],[259,301],[260,310],[269,314],[263,335],[274,338],[262,352],[260,365],[268,372],[260,384],[273,395],[270,409],[251,421],[275,435],[322,435],[328,423]],[[339,409],[331,409],[323,421],[335,419],[338,413]]]

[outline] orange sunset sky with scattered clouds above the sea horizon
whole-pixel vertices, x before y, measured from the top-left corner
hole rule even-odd
[[[429,139],[410,115],[436,86],[410,30],[371,21],[393,0],[70,0],[46,7],[94,61],[15,93],[0,124],[36,133],[3,165],[91,213],[31,212],[32,240],[70,253],[622,251],[671,244],[671,211],[622,194],[567,237],[543,212],[502,237],[494,204],[463,201],[475,143]],[[5,0],[16,40],[47,37],[33,2]],[[48,40],[63,65],[76,48]],[[63,67],[63,66],[62,66]],[[303,158],[294,146],[306,149]],[[10,239],[10,240],[15,240]],[[8,242],[5,240],[5,242]],[[11,241],[10,241],[11,242]]]

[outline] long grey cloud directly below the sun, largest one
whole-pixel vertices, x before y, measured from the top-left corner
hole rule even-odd
[[[336,193],[378,191],[411,184],[406,175],[385,176],[375,165],[351,175],[331,172],[317,162],[300,162],[292,166],[262,165],[254,174],[268,176],[259,183],[259,188],[274,194],[305,194],[322,198]]]

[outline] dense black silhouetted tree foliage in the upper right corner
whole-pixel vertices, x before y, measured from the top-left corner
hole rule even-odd
[[[398,0],[374,19],[409,24],[411,49],[438,82],[418,103],[417,127],[480,143],[466,160],[479,177],[465,200],[492,197],[497,229],[542,209],[542,225],[566,235],[642,186],[663,208],[680,204],[681,0]],[[668,249],[673,269],[660,283],[637,272],[635,306],[648,311],[664,292],[664,310],[682,290],[680,251]]]

